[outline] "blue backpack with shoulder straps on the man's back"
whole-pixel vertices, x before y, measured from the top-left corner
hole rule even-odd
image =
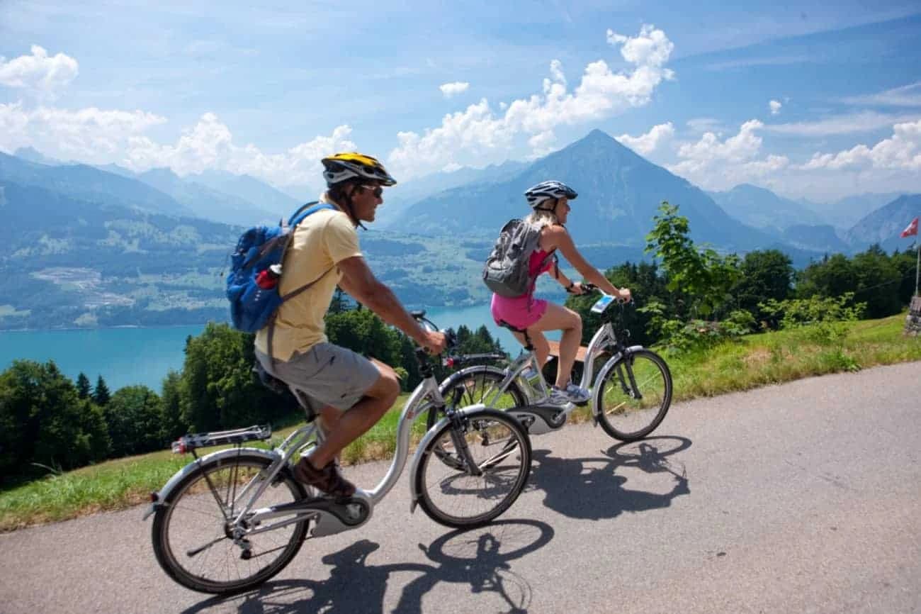
[[[285,295],[278,292],[282,261],[297,224],[322,209],[334,210],[335,207],[308,203],[298,208],[287,223],[282,220],[278,226],[254,226],[240,235],[237,248],[230,256],[230,274],[227,276],[227,300],[230,301],[230,320],[234,328],[255,333],[272,324],[274,314],[283,302],[308,289],[330,272],[326,271],[309,284]],[[271,331],[269,350],[271,354]]]

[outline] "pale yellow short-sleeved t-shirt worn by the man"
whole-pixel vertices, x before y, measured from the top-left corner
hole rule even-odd
[[[282,263],[279,292],[284,296],[323,277],[278,309],[272,336],[275,359],[290,360],[296,351],[303,353],[328,340],[323,316],[330,308],[332,294],[342,277],[335,265],[345,258],[360,255],[358,233],[352,220],[342,211],[323,209],[297,226]],[[265,326],[256,333],[256,348],[264,354],[269,353],[268,330]]]

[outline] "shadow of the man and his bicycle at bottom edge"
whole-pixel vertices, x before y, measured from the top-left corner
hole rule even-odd
[[[369,555],[380,546],[361,539],[321,559],[332,566],[327,580],[271,581],[239,596],[206,599],[183,614],[212,608],[226,611],[227,606],[235,606],[240,614],[384,612],[387,584],[394,573],[416,573],[417,577],[403,586],[392,611],[421,614],[426,593],[449,582],[470,584],[474,594],[495,593],[507,604],[508,614],[521,614],[528,611],[530,584],[511,570],[509,561],[541,549],[553,536],[554,530],[542,522],[505,520],[470,531],[452,531],[428,546],[419,544],[434,564],[386,565],[368,563]]]

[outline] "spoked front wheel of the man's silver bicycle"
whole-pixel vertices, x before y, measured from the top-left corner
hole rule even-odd
[[[446,463],[441,455],[453,462]],[[530,439],[519,421],[480,409],[448,421],[414,475],[419,505],[441,525],[471,528],[505,512],[528,483]]]

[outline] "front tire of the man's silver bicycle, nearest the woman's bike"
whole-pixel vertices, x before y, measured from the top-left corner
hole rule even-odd
[[[480,448],[492,448],[487,451],[483,461],[479,458],[473,459],[483,471],[483,475],[472,476],[465,468],[450,466],[444,461],[432,462],[433,458],[438,458],[438,446],[442,450],[454,446],[451,434],[455,427],[449,421],[440,427],[426,444],[413,479],[415,490],[419,493],[419,506],[432,520],[454,528],[473,528],[486,525],[503,514],[524,490],[530,476],[530,438],[517,419],[496,409],[477,409],[463,416],[461,422],[463,432],[455,431],[455,434],[463,436],[464,442],[470,446],[471,455]],[[464,455],[457,454],[456,457],[463,458]],[[520,463],[510,476],[505,471],[507,466],[499,465],[507,459]],[[446,478],[430,478],[429,474],[437,470],[446,470]],[[507,492],[497,498],[493,490],[499,490],[505,484],[509,485]],[[440,489],[432,490],[435,487]],[[457,502],[457,497],[464,494],[472,494],[474,497],[472,500],[468,497],[461,506],[464,514],[472,510],[478,500],[482,502],[497,499],[497,502],[489,509],[470,515],[449,512],[446,503]]]

